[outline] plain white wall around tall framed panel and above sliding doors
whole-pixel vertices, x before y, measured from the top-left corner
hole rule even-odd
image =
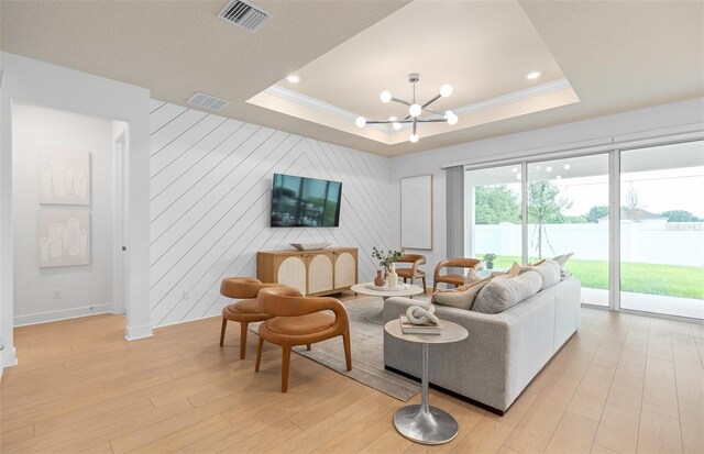
[[[457,162],[490,163],[514,157],[543,155],[590,144],[616,142],[619,136],[632,139],[658,136],[664,130],[704,129],[704,99],[696,98],[671,104],[601,117],[552,128],[504,135],[437,148],[392,159],[394,207],[400,207],[399,179],[406,176],[433,175],[433,248],[418,251],[427,258],[426,273],[432,276],[435,265],[447,257],[446,179],[443,164]],[[422,137],[420,139],[422,141]],[[393,244],[400,243],[399,209],[393,212]],[[466,245],[465,245],[466,247]],[[481,248],[481,247],[480,247]],[[410,251],[409,251],[410,252]]]

